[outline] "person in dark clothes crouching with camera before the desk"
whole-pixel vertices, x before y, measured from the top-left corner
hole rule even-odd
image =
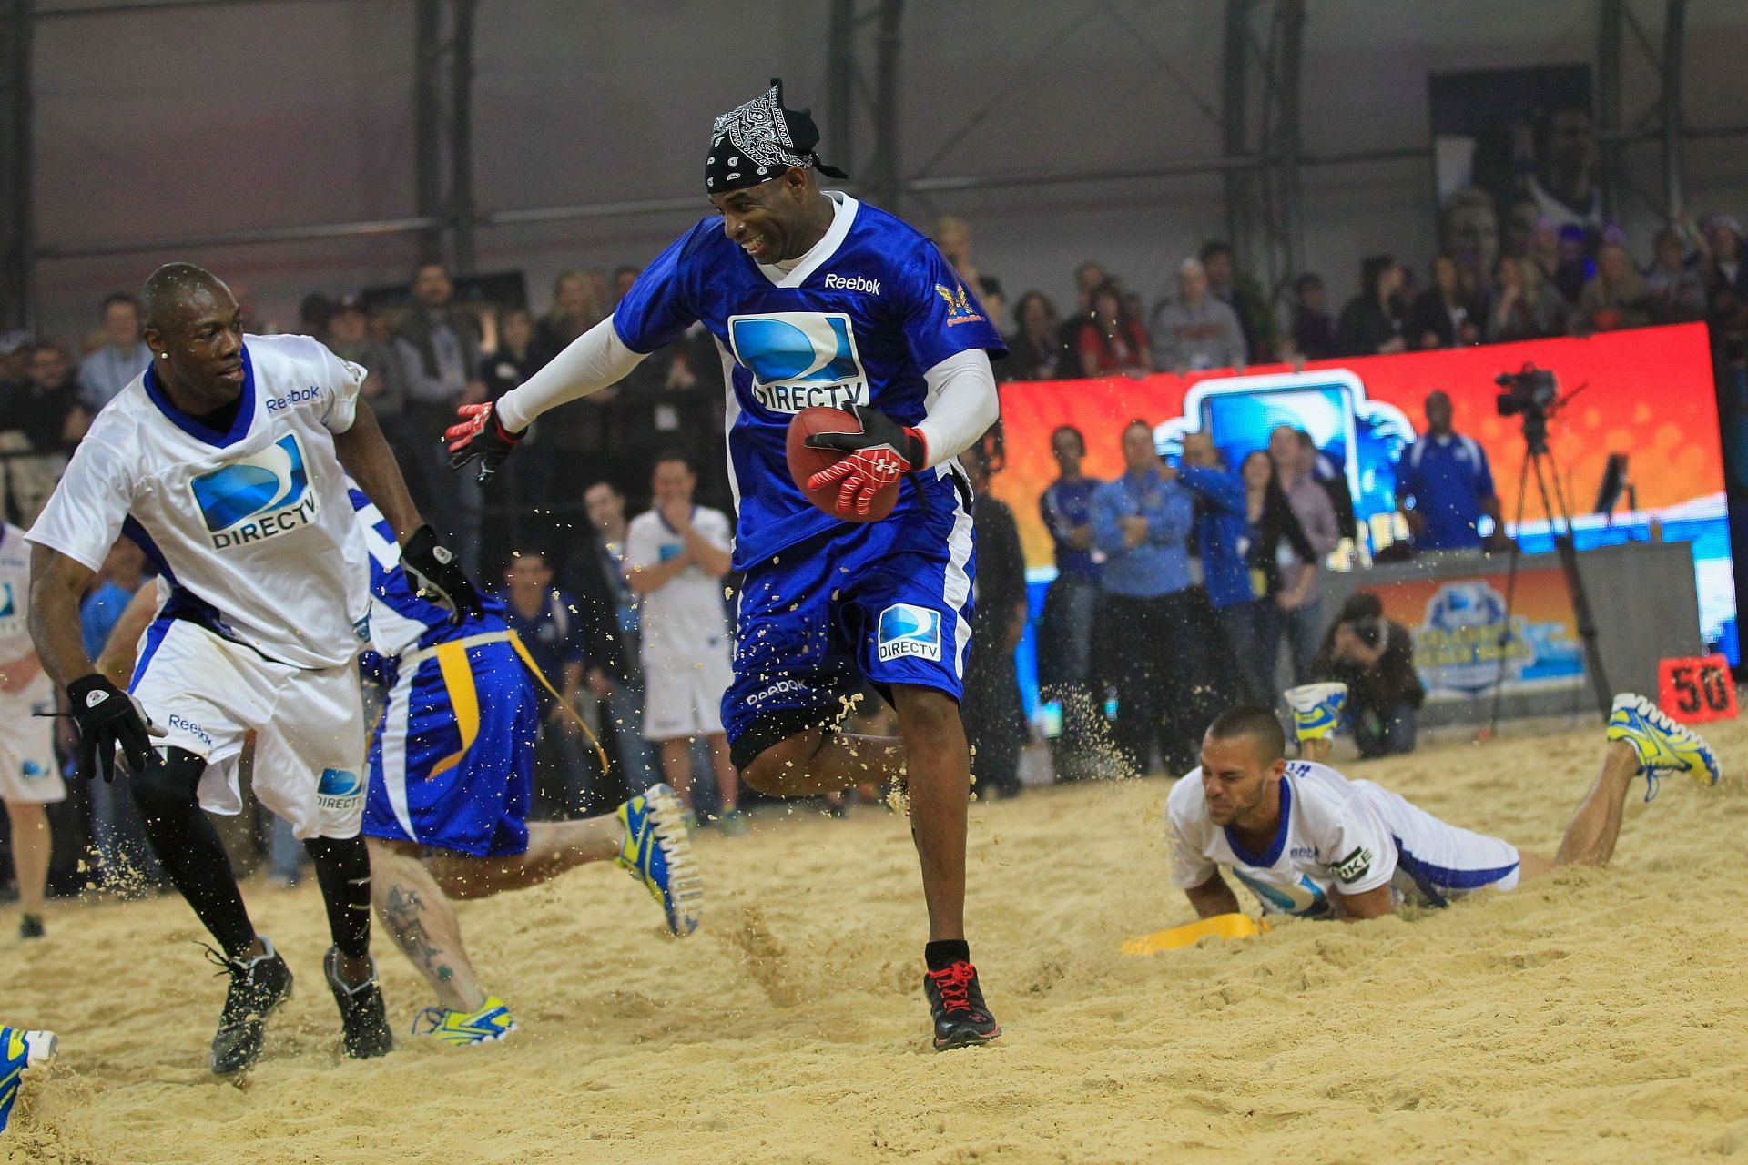
[[[1414,713],[1426,700],[1426,688],[1414,672],[1409,629],[1384,618],[1376,594],[1355,590],[1341,604],[1311,660],[1311,676],[1348,685],[1348,716],[1360,756],[1414,751]]]

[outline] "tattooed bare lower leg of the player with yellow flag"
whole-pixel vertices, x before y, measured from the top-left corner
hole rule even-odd
[[[451,1011],[477,1011],[486,992],[461,947],[454,906],[420,861],[420,847],[374,837],[365,844],[371,847],[371,898],[400,954],[425,976],[437,1003]]]

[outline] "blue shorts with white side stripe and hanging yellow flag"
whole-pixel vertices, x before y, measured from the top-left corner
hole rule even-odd
[[[507,641],[388,662],[364,833],[474,858],[528,851],[540,709]]]

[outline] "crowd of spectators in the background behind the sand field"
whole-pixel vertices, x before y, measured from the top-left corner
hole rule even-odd
[[[1082,264],[1065,314],[1038,290],[1009,304],[975,262],[965,222],[939,222],[935,238],[1007,330],[1010,355],[996,365],[1007,381],[1243,369],[1692,320],[1711,325],[1720,367],[1743,362],[1739,220],[1671,224],[1636,260],[1624,234],[1594,213],[1514,208],[1503,232],[1500,217],[1491,196],[1460,190],[1444,208],[1439,253],[1421,271],[1393,255],[1363,259],[1360,292],[1339,313],[1316,272],[1271,293],[1229,245],[1210,241],[1176,265],[1171,293],[1152,306],[1105,265]],[[437,440],[456,405],[495,400],[528,379],[605,320],[636,276],[636,267],[565,271],[535,314],[519,295],[458,295],[449,271],[432,262],[400,297],[313,293],[295,330],[365,369],[364,396],[414,500],[447,524],[440,533],[470,575],[502,580],[512,625],[552,678],[558,695],[542,693],[538,807],[547,816],[596,812],[659,769],[676,788],[696,786],[704,819],[732,831],[739,789],[711,695],[668,681],[685,672],[725,683],[727,674],[732,496],[711,337],[694,332],[622,384],[542,417],[491,491],[451,473]],[[246,330],[280,330],[236,290]],[[105,297],[93,325],[75,346],[0,334],[7,520],[33,519],[91,417],[149,363],[133,297]],[[1451,431],[1449,402],[1439,396],[1426,402],[1428,433],[1398,466],[1404,519],[1425,548],[1498,540],[1486,458]],[[1105,776],[1113,765],[1145,772],[1155,756],[1168,769],[1190,767],[1197,727],[1222,706],[1276,702],[1283,648],[1295,681],[1349,683],[1362,751],[1412,748],[1423,693],[1405,629],[1384,620],[1365,592],[1325,617],[1320,571],[1337,541],[1353,536],[1353,503],[1339,479],[1320,473],[1306,433],[1283,426],[1232,465],[1194,437],[1182,459],[1161,459],[1147,421],[1094,437],[1120,442],[1124,473],[1089,479],[1087,435],[1061,428],[1051,438],[1059,477],[1038,503],[1056,541],[1038,667],[1044,695],[1063,716],[1059,779]],[[977,486],[1000,470],[993,449],[965,458]],[[1026,739],[1014,669],[1026,631],[1024,564],[1012,512],[981,487],[977,498],[979,650],[967,730],[982,788],[1016,793]],[[86,601],[93,655],[107,620],[149,583],[136,552],[112,554]],[[669,634],[673,627],[683,632]],[[558,700],[596,727],[607,769]],[[872,699],[858,714],[877,714]],[[72,835],[147,868],[128,798],[107,789],[82,798],[86,828]],[[274,873],[295,880],[295,847],[281,852]]]

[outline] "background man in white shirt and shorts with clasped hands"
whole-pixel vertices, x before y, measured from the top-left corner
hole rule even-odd
[[[734,679],[722,576],[729,573],[729,515],[692,505],[697,473],[683,454],[662,454],[650,475],[654,505],[626,531],[626,585],[643,596],[643,739],[661,744],[661,767],[692,805],[694,737],[710,746],[722,824],[745,828],[739,776],[722,730],[722,693]]]

